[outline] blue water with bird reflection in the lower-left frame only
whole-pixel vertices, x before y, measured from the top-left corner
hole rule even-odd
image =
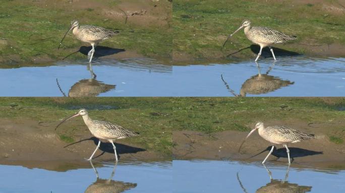
[[[111,180],[114,164],[93,165],[99,179],[91,165],[64,172],[0,165],[0,192],[169,192],[172,185],[171,161],[120,162]]]

